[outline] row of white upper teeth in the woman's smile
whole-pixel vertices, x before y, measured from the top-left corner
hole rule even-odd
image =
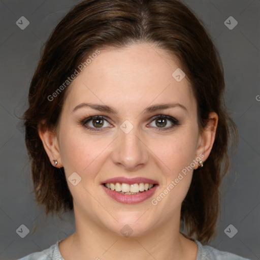
[[[135,184],[127,184],[127,183],[105,183],[105,186],[111,190],[122,191],[122,192],[139,192],[148,190],[153,187],[153,184],[149,183],[135,183]]]

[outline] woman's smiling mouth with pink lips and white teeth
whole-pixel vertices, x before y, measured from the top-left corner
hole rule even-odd
[[[137,204],[150,198],[158,183],[147,178],[113,178],[102,183],[109,197],[125,204]]]

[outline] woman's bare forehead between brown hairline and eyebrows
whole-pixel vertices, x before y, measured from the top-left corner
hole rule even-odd
[[[140,110],[151,103],[178,102],[193,109],[187,78],[172,76],[179,69],[177,57],[149,44],[101,49],[70,85],[67,105],[93,102]]]

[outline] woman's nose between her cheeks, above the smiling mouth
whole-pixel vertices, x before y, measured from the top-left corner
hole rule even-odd
[[[138,128],[125,134],[119,129],[112,152],[113,163],[127,172],[135,172],[144,167],[149,159],[148,148],[140,137]]]

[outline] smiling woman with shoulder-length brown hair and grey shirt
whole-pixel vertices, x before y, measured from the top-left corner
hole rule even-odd
[[[76,232],[22,259],[245,259],[203,245],[236,133],[223,91],[219,55],[181,2],[74,7],[24,119],[36,199],[74,210]]]

